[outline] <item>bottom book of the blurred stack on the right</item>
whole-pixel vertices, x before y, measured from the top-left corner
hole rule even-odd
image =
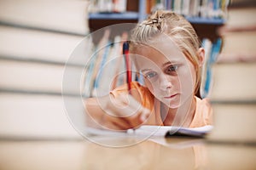
[[[256,105],[212,104],[214,128],[207,139],[214,142],[254,143],[256,142]]]

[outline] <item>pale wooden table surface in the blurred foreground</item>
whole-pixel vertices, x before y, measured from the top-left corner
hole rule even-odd
[[[109,146],[111,145],[111,146]],[[256,146],[205,139],[1,140],[0,169],[256,169]]]

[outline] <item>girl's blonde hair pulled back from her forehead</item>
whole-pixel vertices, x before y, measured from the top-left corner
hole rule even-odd
[[[178,48],[195,66],[195,93],[197,93],[201,84],[200,59],[197,54],[200,42],[193,26],[183,16],[172,11],[158,10],[154,12],[131,31],[131,52],[136,53],[143,44],[154,42],[154,37],[161,33],[172,37]]]

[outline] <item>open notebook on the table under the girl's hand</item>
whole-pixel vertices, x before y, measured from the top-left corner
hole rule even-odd
[[[203,137],[212,131],[212,126],[207,125],[204,127],[172,127],[172,126],[150,126],[143,125],[137,129],[128,129],[126,131],[110,131],[100,130],[88,127],[86,133],[95,135],[135,135],[135,136],[190,136],[190,137]]]

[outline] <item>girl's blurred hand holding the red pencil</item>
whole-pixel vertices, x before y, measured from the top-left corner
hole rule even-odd
[[[96,103],[96,105],[90,105],[93,103]],[[102,128],[108,130],[126,130],[140,127],[150,115],[150,111],[130,94],[119,94],[117,97],[109,94],[101,98],[87,99],[86,107],[88,114]]]

